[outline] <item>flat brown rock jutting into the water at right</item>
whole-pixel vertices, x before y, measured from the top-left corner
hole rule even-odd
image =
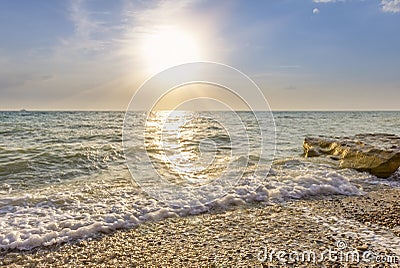
[[[352,137],[307,137],[306,157],[328,155],[342,168],[353,168],[387,178],[400,166],[400,137],[393,134],[359,134]]]

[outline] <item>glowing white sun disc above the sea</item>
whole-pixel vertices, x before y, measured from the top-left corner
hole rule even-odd
[[[199,41],[177,27],[161,27],[146,34],[142,48],[143,60],[150,72],[201,60]]]

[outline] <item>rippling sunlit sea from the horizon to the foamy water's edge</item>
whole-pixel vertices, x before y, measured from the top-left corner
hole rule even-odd
[[[365,185],[400,187],[399,172],[380,179],[304,158],[302,149],[307,136],[399,135],[398,111],[273,112],[266,136],[252,112],[132,113],[128,124],[125,112],[0,112],[0,251],[254,203],[363,195]],[[146,131],[135,133],[143,120]],[[182,193],[222,177],[229,183],[218,194],[187,201]],[[177,187],[175,203],[160,183]]]

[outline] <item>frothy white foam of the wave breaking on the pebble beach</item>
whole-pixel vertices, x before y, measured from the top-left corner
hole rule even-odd
[[[146,221],[226,210],[252,202],[281,202],[320,194],[362,194],[348,178],[333,169],[301,165],[293,170],[278,165],[273,175],[259,179],[262,184],[256,190],[248,183],[254,178],[248,178],[215,202],[199,201],[197,206],[180,200],[179,205],[167,207],[132,186],[127,172],[118,183],[107,179],[112,176],[110,171],[90,181],[52,185],[23,196],[6,194],[0,199],[0,249],[27,250]]]

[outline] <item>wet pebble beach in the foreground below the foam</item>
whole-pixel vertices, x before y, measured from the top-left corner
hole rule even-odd
[[[398,267],[399,215],[400,189],[371,189],[364,196],[255,204],[219,213],[147,222],[132,229],[31,251],[2,252],[0,266],[268,267],[285,264],[277,254],[270,258],[272,251],[312,251],[320,256],[327,250],[338,251],[340,241],[346,245],[344,253],[356,250],[361,258],[365,252],[372,252],[378,257],[391,256],[394,261],[378,263],[375,256],[371,263],[365,264]],[[363,264],[338,260],[287,259],[286,265]]]

